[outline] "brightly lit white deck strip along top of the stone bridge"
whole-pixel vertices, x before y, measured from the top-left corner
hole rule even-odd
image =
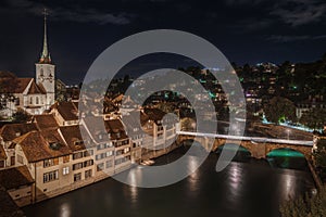
[[[313,141],[306,141],[306,140],[286,140],[286,139],[264,138],[264,137],[243,137],[243,136],[215,135],[215,133],[189,132],[189,131],[176,131],[176,133],[185,135],[185,136],[195,136],[195,137],[208,137],[208,138],[220,138],[220,139],[230,139],[230,140],[247,140],[247,141],[261,142],[261,143],[262,142],[271,142],[271,143],[313,146]]]

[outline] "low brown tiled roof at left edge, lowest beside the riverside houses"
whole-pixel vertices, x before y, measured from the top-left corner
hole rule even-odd
[[[34,182],[26,166],[18,166],[0,170],[0,184],[7,190],[16,189]]]

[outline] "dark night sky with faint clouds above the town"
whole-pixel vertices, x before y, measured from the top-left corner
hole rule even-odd
[[[67,84],[82,81],[92,61],[115,41],[158,28],[203,37],[239,64],[310,62],[326,52],[325,0],[4,0],[0,71],[34,76],[45,7],[57,77]],[[164,60],[158,65],[185,65]]]

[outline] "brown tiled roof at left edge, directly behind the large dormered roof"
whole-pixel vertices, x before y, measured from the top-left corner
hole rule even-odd
[[[21,137],[32,130],[37,130],[37,126],[33,124],[8,124],[0,130],[0,136],[3,141],[12,141],[13,139]]]

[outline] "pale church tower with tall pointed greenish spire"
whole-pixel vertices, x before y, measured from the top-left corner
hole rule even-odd
[[[52,64],[52,60],[48,50],[47,41],[47,11],[45,9],[45,36],[43,36],[43,49],[39,62],[36,63],[36,84],[46,92],[46,106],[49,108],[54,104],[55,98],[55,66]]]

